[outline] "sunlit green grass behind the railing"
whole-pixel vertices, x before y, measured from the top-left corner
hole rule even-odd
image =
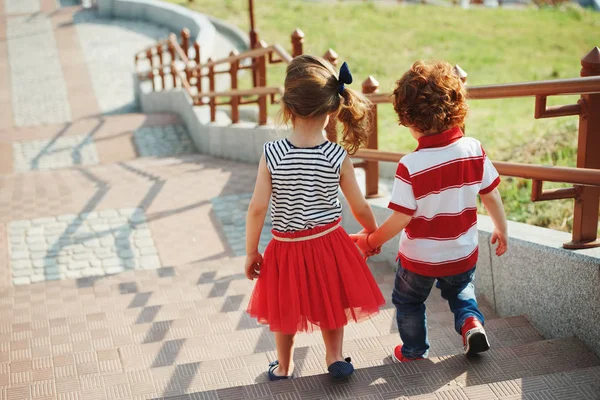
[[[249,29],[246,0],[168,1]],[[356,89],[373,75],[380,90],[390,92],[418,59],[460,65],[469,74],[469,85],[571,78],[579,76],[580,58],[600,46],[600,13],[577,7],[464,10],[372,2],[254,3],[261,39],[290,49],[291,32],[302,29],[305,53],[322,55],[333,48],[350,65]],[[283,74],[283,66],[269,69],[269,84],[281,84]],[[576,101],[576,96],[561,96],[549,104]],[[575,165],[576,118],[536,121],[533,98],[472,101],[470,108],[467,135],[481,140],[493,159]],[[380,148],[390,151],[411,150],[416,144],[398,127],[391,105],[379,107],[379,137]],[[572,202],[533,204],[530,188],[527,181],[504,180],[509,218],[570,229]]]

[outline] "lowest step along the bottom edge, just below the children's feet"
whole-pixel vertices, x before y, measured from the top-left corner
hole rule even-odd
[[[548,368],[549,372],[543,374],[483,383],[491,376],[486,368],[493,368],[492,363],[484,366],[484,363],[446,362],[449,368],[443,369],[439,369],[441,363],[429,361],[364,368],[356,371],[348,382],[334,382],[327,375],[319,375],[189,395],[167,395],[160,399],[600,399],[598,366],[556,372]],[[467,379],[463,379],[467,375]],[[479,381],[481,383],[477,383]],[[184,382],[193,383],[194,378],[187,377]]]

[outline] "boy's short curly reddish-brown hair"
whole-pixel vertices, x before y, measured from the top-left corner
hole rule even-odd
[[[394,110],[400,125],[425,135],[461,126],[467,115],[467,92],[445,61],[415,62],[394,90]]]

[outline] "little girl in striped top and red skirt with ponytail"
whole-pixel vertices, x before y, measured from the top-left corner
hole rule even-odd
[[[296,57],[287,67],[281,98],[289,139],[266,143],[258,166],[246,221],[246,276],[258,278],[248,313],[275,333],[278,361],[269,379],[292,376],[294,336],[320,329],[325,361],[334,378],[354,367],[342,356],[344,326],[379,311],[385,303],[367,264],[340,226],[341,187],[365,232],[377,229],[363,197],[348,151],[367,140],[368,100],[345,87],[352,82],[346,63],[338,78],[331,64],[313,56]],[[343,124],[344,147],[328,142],[330,117]],[[346,150],[344,150],[344,148]],[[271,200],[273,240],[264,258],[260,232]]]

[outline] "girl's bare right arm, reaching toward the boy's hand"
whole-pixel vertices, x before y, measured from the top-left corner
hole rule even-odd
[[[374,232],[377,229],[377,222],[371,206],[363,196],[356,182],[354,174],[354,166],[349,157],[346,157],[342,162],[340,172],[340,188],[350,205],[352,215],[364,228],[366,232]]]

